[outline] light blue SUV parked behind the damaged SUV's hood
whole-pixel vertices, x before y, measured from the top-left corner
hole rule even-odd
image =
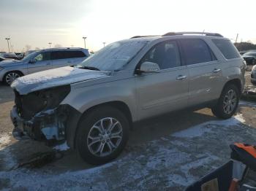
[[[0,81],[10,85],[13,80],[37,71],[72,66],[89,57],[82,48],[52,48],[39,50],[27,55],[21,61],[2,61],[0,63]]]

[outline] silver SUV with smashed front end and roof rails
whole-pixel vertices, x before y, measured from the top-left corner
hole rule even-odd
[[[13,135],[67,141],[88,163],[107,163],[124,149],[133,122],[203,107],[232,117],[245,68],[236,47],[220,34],[134,36],[77,66],[16,79]]]

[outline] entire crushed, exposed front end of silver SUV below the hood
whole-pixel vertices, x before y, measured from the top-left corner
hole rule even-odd
[[[72,110],[60,105],[70,92],[64,85],[20,95],[15,91],[15,106],[11,111],[15,139],[61,141],[66,139],[67,119]]]

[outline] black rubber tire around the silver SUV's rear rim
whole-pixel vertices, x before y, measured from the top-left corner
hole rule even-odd
[[[223,102],[224,102],[225,95],[227,94],[227,92],[229,90],[234,90],[235,91],[237,101],[236,101],[235,109],[233,109],[233,112],[231,112],[230,114],[227,114],[227,113],[224,112]],[[238,91],[238,87],[236,87],[236,85],[233,85],[233,84],[227,85],[224,88],[224,90],[222,91],[222,95],[219,98],[217,106],[214,109],[212,109],[214,115],[216,115],[217,117],[220,117],[222,119],[228,119],[228,118],[232,117],[233,114],[236,113],[236,109],[238,108],[239,99],[240,99],[240,93]]]

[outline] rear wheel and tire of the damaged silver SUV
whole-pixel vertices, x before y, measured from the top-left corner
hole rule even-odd
[[[239,99],[240,93],[238,87],[233,84],[227,85],[224,90],[222,90],[222,94],[220,95],[216,106],[211,108],[211,112],[216,117],[224,120],[228,119],[235,114]]]

